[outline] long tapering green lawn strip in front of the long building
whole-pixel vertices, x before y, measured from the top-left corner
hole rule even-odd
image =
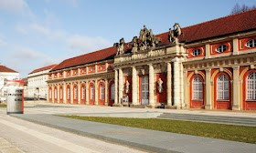
[[[80,117],[59,116],[89,120],[133,128],[147,128],[165,132],[181,133],[207,138],[221,138],[256,144],[256,128],[214,123],[190,122],[158,118],[123,118],[123,117]]]

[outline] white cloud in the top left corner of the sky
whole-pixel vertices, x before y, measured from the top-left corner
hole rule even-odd
[[[25,0],[0,0],[0,10],[17,15],[33,15]]]

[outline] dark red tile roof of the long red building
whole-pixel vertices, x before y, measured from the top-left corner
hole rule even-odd
[[[182,35],[179,36],[179,42],[192,43],[199,40],[225,36],[244,31],[256,29],[256,9],[246,11],[236,15],[228,15],[208,22],[200,23],[194,26],[183,27]],[[161,45],[169,44],[168,32],[156,35],[162,39]],[[96,61],[101,61],[115,56],[116,48],[109,47],[96,52],[91,52],[82,56],[62,61],[53,70],[59,70],[71,66],[80,66]]]

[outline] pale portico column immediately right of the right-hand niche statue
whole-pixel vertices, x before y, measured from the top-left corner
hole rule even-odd
[[[172,106],[172,65],[167,62],[167,106]]]

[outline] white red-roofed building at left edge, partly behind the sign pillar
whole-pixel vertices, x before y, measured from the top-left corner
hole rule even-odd
[[[19,73],[6,66],[0,66],[0,101],[5,101],[5,80],[19,79]]]

